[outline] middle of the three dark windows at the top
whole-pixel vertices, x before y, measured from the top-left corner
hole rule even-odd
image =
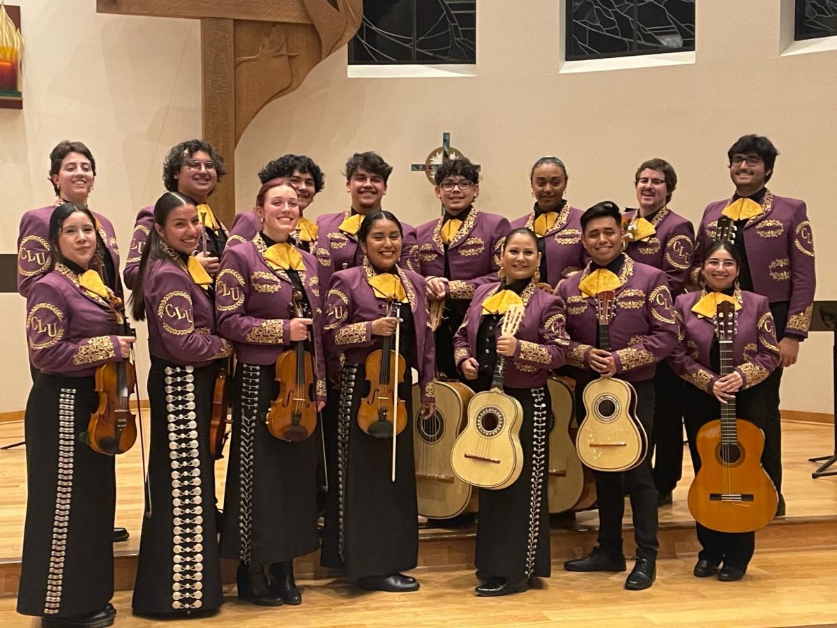
[[[568,61],[695,49],[695,0],[566,0]]]

